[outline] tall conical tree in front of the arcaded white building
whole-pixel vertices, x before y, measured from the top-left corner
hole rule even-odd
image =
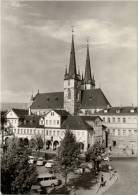
[[[76,142],[73,133],[70,130],[66,130],[56,158],[56,169],[64,176],[65,185],[67,184],[68,174],[80,164],[79,155],[79,143]]]

